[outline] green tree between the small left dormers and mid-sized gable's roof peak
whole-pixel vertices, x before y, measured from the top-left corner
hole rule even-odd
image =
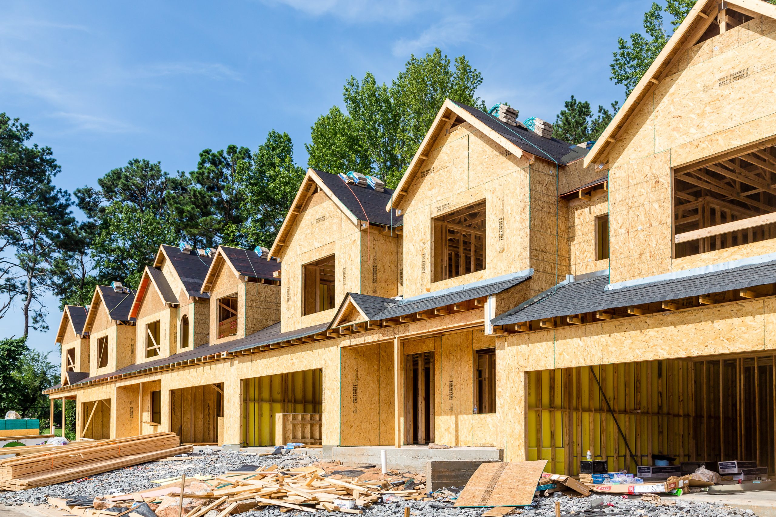
[[[252,161],[237,168],[245,192],[246,247],[272,246],[304,175],[304,168],[293,161],[291,137],[275,130],[269,132]]]

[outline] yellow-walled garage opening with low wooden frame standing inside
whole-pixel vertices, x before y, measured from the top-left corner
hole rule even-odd
[[[322,443],[323,370],[276,373],[242,381],[243,446]]]

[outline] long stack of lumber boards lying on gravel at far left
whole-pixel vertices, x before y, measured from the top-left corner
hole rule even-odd
[[[0,460],[0,488],[18,491],[44,487],[191,450],[191,446],[180,446],[175,433],[158,432],[30,451]]]

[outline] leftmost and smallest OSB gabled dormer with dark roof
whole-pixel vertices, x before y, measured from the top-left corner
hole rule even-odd
[[[57,330],[57,344],[62,351],[62,386],[89,376],[89,336],[84,331],[88,309],[65,305]]]

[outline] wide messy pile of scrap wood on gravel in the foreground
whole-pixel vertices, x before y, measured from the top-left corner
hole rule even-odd
[[[424,484],[405,488],[404,484],[395,487],[385,481],[359,482],[357,478],[346,481],[324,477],[323,474],[325,471],[318,467],[282,470],[273,465],[255,472],[161,480],[166,483],[163,488],[95,498],[87,505],[54,498],[50,498],[49,503],[84,517],[97,517],[109,512],[110,515],[126,513],[128,517],[144,517],[143,512],[133,512],[140,505],[147,505],[147,509],[158,517],[201,517],[211,510],[216,510],[218,517],[225,517],[230,513],[266,506],[279,506],[282,512],[325,510],[361,514],[363,508],[390,496],[404,501],[433,500],[425,493]],[[108,508],[112,509],[106,512]]]

